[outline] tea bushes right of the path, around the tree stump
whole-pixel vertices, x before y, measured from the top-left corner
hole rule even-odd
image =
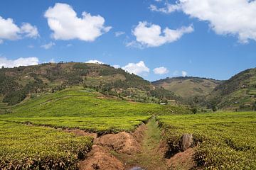
[[[199,142],[194,157],[206,169],[256,169],[256,113],[219,112],[196,115],[161,115],[169,149],[180,151],[184,133]]]

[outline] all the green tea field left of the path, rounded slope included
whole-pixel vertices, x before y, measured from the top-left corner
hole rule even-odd
[[[0,169],[78,169],[92,138],[61,128],[100,135],[130,132],[156,113],[177,111],[188,113],[178,106],[107,98],[82,87],[38,94],[11,107],[11,113],[1,113]]]

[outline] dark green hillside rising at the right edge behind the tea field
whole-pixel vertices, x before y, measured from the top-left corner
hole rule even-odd
[[[224,81],[206,99],[208,104],[218,108],[252,110],[255,107],[255,97],[256,68],[246,69]]]

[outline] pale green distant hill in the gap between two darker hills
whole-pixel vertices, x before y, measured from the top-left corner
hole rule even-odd
[[[166,90],[173,91],[185,100],[195,96],[207,96],[222,81],[200,77],[174,77],[153,81],[154,86],[161,86]]]

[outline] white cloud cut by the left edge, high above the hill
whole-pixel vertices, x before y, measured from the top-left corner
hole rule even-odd
[[[39,36],[36,26],[22,23],[21,28],[16,26],[12,18],[4,19],[0,16],[0,40],[18,40],[23,37],[37,38]]]

